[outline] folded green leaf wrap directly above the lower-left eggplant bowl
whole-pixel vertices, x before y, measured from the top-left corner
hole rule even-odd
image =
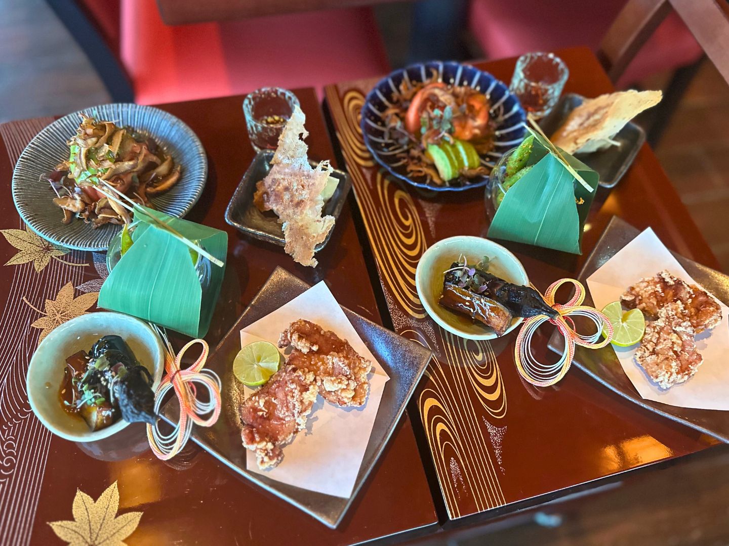
[[[205,336],[220,295],[225,265],[219,267],[208,261],[210,282],[203,290],[190,248],[152,217],[197,242],[223,264],[227,233],[147,207],[136,209],[134,217],[147,225],[140,224],[133,232],[134,243],[104,281],[98,306],[193,338]]]

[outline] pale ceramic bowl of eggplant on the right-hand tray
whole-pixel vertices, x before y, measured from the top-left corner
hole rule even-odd
[[[420,258],[415,273],[418,296],[426,312],[445,330],[466,339],[494,339],[498,336],[493,329],[438,304],[440,294],[443,293],[445,271],[451,269],[451,264],[458,261],[461,254],[466,256],[469,264],[477,264],[483,256],[488,256],[491,260],[489,273],[515,285],[529,286],[529,277],[521,261],[509,250],[483,237],[459,235],[438,241]],[[521,324],[522,320],[521,317],[515,317],[504,336]]]

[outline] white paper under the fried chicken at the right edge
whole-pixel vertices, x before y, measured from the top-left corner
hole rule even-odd
[[[653,230],[646,229],[588,277],[588,288],[596,308],[602,309],[611,301],[619,300],[636,281],[652,277],[663,269],[685,282],[698,284]],[[682,408],[729,410],[729,309],[724,304],[721,307],[721,323],[696,336],[696,348],[703,355],[703,363],[691,379],[670,389],[658,387],[636,363],[634,355],[638,344],[612,346],[625,374],[643,398]]]

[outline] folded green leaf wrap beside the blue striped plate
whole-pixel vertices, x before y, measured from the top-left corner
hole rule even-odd
[[[592,191],[577,182],[541,139],[535,138],[527,162],[533,167],[504,195],[488,228],[488,237],[582,253],[582,228],[599,175],[566,151],[559,151]]]

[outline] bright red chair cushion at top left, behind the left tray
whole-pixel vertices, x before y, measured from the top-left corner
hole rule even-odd
[[[154,0],[122,0],[122,61],[138,103],[316,87],[389,71],[371,9],[167,26]]]

